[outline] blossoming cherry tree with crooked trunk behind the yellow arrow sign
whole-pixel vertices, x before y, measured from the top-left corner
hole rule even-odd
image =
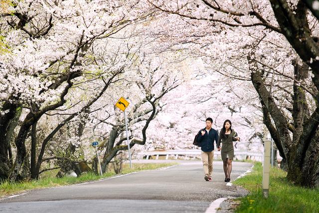
[[[169,56],[168,56],[169,55]],[[177,57],[177,56],[175,56]],[[120,91],[112,95],[112,102],[116,103],[115,97],[128,97],[132,105],[126,109],[128,116],[130,147],[135,144],[145,145],[147,141],[146,131],[165,103],[161,99],[175,89],[185,80],[184,74],[187,73],[180,67],[180,62],[172,61],[174,56],[164,52],[156,57],[143,52],[139,57],[139,62],[134,70],[131,71],[130,81],[121,83]],[[171,62],[169,62],[171,61]],[[132,75],[132,72],[135,74]],[[128,78],[127,78],[128,79]],[[183,80],[184,79],[184,80]],[[128,88],[130,88],[128,90]],[[109,106],[113,108],[114,106]],[[113,110],[107,110],[109,113]],[[99,115],[96,119],[100,124],[97,128],[104,132],[102,138],[104,143],[100,146],[104,152],[102,161],[102,172],[107,170],[111,160],[120,153],[127,150],[125,134],[125,121],[119,109],[115,109],[112,115]]]

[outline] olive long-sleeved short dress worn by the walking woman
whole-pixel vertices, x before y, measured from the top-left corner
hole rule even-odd
[[[237,141],[236,139],[233,139],[234,136],[237,136],[237,133],[232,130],[229,135],[221,135],[219,133],[219,138],[217,142],[217,147],[220,146],[220,142],[222,143],[221,146],[221,159],[223,161],[226,161],[227,158],[230,160],[234,159],[234,145],[233,141]]]

